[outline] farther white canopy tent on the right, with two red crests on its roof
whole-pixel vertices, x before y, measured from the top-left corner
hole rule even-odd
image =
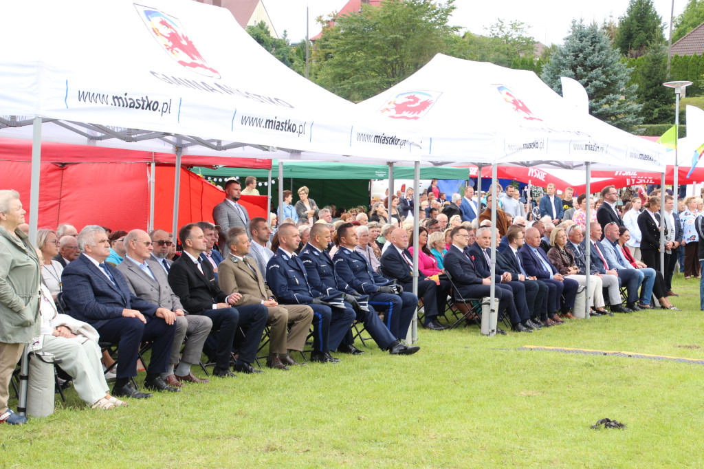
[[[584,94],[575,84],[579,85],[570,83],[574,85],[570,90],[579,97],[565,99],[531,71],[438,54],[406,80],[358,106],[422,135],[421,161],[491,164],[494,181],[498,164],[584,168],[587,190],[592,163],[665,170],[662,146],[586,113]],[[496,200],[496,184],[492,186]],[[417,206],[416,200],[416,210]],[[492,208],[494,229],[495,211],[496,204]],[[493,250],[495,242],[492,237]],[[492,273],[495,263],[492,254]],[[414,271],[417,275],[417,264]],[[492,276],[492,305],[493,299]]]

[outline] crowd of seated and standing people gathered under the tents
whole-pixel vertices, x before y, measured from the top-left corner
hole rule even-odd
[[[587,278],[591,315],[656,305],[677,309],[657,255],[660,215],[670,215],[671,207],[660,211],[660,199],[653,197],[634,216],[630,211],[638,204],[631,204],[627,218],[639,229],[636,258],[612,187],[602,192],[594,221],[584,227],[579,209],[560,205],[564,199],[553,189],[536,203],[540,219],[518,191],[499,194],[494,250],[491,194],[475,198],[468,188],[445,200],[434,191],[424,193],[417,251],[413,189],[392,194],[391,213],[388,198],[367,213],[365,207],[319,208],[301,187],[295,208],[292,194],[284,194],[278,219],[250,219],[238,203],[239,182],[228,181],[226,199],[213,211],[215,223],[189,223],[176,237],[165,230],[99,225],[77,230],[61,224],[39,230],[35,240],[21,226],[19,195],[2,190],[0,284],[14,284],[10,290],[16,291],[0,297],[0,326],[10,311],[26,320],[22,327],[0,327],[0,422],[24,421],[7,407],[8,370],[19,358],[17,347],[9,345],[35,337],[62,357],[60,366],[80,398],[108,410],[153,392],[207,384],[194,374],[203,361],[213,365],[215,377],[261,373],[254,365],[265,328],[270,341],[265,365],[272,370],[363,354],[354,344],[355,322],[389,354],[415,354],[419,347],[404,342],[419,305],[423,327],[445,330],[441,318],[453,297],[489,296],[492,261],[499,313],[513,332],[574,318],[579,286]],[[584,199],[574,205],[581,207],[580,202]],[[570,209],[572,219],[563,219]],[[677,226],[679,218],[666,217],[664,228]],[[673,228],[667,249],[674,251],[681,237]],[[675,254],[668,255],[667,263]],[[412,293],[416,262],[417,296]],[[34,273],[36,311],[24,300],[35,287]],[[9,281],[16,277],[23,282]],[[303,356],[310,331],[313,350]],[[113,345],[118,362],[99,342]],[[142,363],[140,350],[147,343],[149,363]],[[137,389],[132,378],[142,369],[144,386]]]

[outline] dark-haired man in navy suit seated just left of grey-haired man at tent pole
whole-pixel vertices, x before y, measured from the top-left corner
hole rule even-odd
[[[470,235],[467,228],[458,226],[450,232],[452,246],[445,254],[443,263],[445,271],[452,277],[453,284],[458,289],[458,294],[463,298],[484,298],[491,296],[491,279],[484,278],[477,273],[477,267],[472,257],[467,254],[465,248],[469,242]],[[503,313],[508,313],[512,322],[518,318],[518,312],[513,302],[513,293],[510,289],[498,288],[501,279],[496,280],[494,297],[498,299],[498,315],[501,319]],[[504,330],[496,329],[499,334],[505,334]]]

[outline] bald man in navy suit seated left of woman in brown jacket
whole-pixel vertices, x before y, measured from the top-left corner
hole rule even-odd
[[[540,249],[540,232],[537,228],[531,227],[526,230],[525,241],[526,243],[519,251],[524,270],[528,275],[536,277],[546,284],[553,284],[555,286],[555,296],[551,297],[554,303],[550,309],[552,311],[554,308],[557,311],[561,308],[562,313],[567,313],[569,308],[574,307],[574,299],[577,297],[579,283],[577,283],[577,280],[562,277],[558,270],[548,261],[545,251]],[[565,301],[560,307],[560,296],[562,295],[565,296]],[[551,319],[556,323],[561,322],[558,315]]]

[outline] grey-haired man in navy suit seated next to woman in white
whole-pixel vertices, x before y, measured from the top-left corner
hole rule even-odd
[[[151,397],[130,384],[130,377],[137,376],[137,357],[142,342],[153,342],[144,387],[180,392],[160,376],[168,368],[176,332],[175,313],[139,299],[130,292],[122,273],[105,263],[110,255],[110,242],[102,227],[84,227],[77,242],[82,254],[63,270],[62,296],[68,314],[95,327],[101,341],[118,344],[120,363],[113,396]]]

